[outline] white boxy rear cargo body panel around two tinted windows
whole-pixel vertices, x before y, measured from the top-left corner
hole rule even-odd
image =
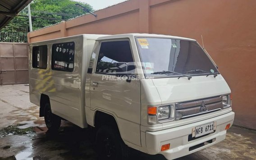
[[[103,35],[76,35],[67,38],[30,43],[29,85],[30,101],[40,106],[41,95],[48,95],[51,110],[56,115],[78,125],[87,127],[85,118],[85,79],[95,40]],[[53,44],[74,43],[73,71],[53,70]],[[47,46],[46,69],[32,66],[33,47]]]

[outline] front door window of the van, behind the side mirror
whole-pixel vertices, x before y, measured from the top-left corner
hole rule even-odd
[[[96,74],[116,75],[124,70],[119,64],[127,64],[127,73],[134,75],[134,61],[128,40],[102,42],[97,60]]]

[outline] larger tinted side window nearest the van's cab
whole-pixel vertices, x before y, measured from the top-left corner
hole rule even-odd
[[[58,43],[52,45],[51,69],[73,72],[75,43]]]

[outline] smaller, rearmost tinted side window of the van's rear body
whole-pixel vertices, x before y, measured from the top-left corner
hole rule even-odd
[[[47,68],[47,45],[32,48],[32,67],[38,69]]]

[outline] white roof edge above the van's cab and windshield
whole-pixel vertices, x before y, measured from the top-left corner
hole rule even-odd
[[[130,34],[121,34],[121,35],[107,35],[103,37],[99,37],[97,40],[102,39],[115,39],[115,38],[133,38],[133,37],[157,37],[157,38],[169,38],[169,39],[183,39],[183,40],[189,40],[189,41],[196,41],[195,39],[189,39],[185,37],[178,37],[178,36],[172,36],[172,35],[157,35],[157,34],[140,34],[140,33],[130,33]]]

